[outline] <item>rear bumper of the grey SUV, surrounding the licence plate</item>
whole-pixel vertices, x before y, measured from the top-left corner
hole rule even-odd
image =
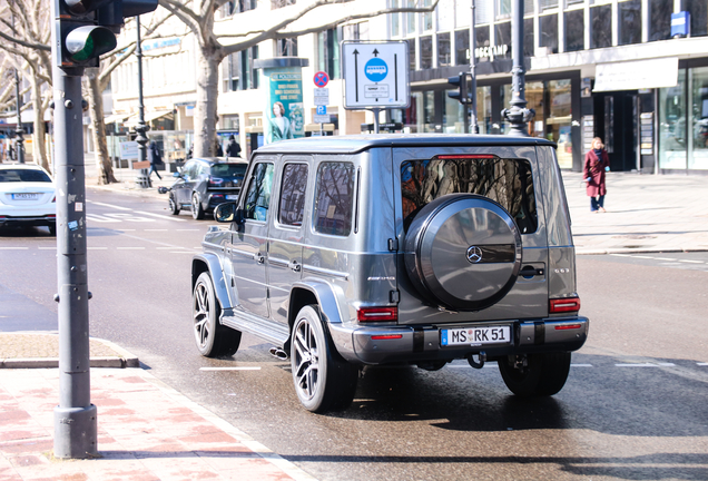
[[[442,328],[511,326],[512,340],[508,344],[462,345],[448,347],[440,342]],[[386,364],[425,360],[453,360],[484,352],[488,359],[509,354],[534,352],[577,351],[588,338],[590,321],[587,317],[549,317],[532,321],[483,322],[461,325],[421,326],[361,326],[358,324],[330,324],[337,351],[350,362]],[[374,336],[380,338],[373,338]],[[381,338],[385,336],[387,338]]]

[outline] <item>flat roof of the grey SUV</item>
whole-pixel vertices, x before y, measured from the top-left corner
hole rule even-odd
[[[308,137],[282,140],[259,147],[257,154],[337,153],[355,154],[372,147],[451,147],[451,146],[532,146],[555,147],[555,143],[537,137],[508,135],[455,134],[380,134],[362,136]]]

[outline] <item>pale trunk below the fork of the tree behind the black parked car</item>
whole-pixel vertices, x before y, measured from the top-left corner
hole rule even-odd
[[[223,56],[210,47],[197,49],[197,105],[194,117],[194,156],[216,156],[216,99]]]

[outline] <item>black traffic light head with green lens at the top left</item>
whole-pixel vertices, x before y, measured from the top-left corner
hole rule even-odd
[[[116,48],[124,18],[156,8],[157,0],[55,0],[58,67],[98,67],[99,57]]]

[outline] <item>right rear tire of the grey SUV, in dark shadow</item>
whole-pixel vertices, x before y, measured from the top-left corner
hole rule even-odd
[[[514,356],[499,360],[499,371],[507,387],[518,396],[557,394],[568,380],[570,353],[529,354],[525,367],[514,367]]]

